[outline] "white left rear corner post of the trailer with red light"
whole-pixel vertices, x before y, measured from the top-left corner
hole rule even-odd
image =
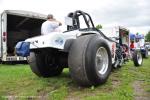
[[[7,55],[7,14],[4,12],[1,16],[1,56],[2,60],[6,61]]]

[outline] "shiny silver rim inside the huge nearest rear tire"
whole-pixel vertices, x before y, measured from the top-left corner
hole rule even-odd
[[[95,57],[96,69],[98,74],[103,75],[108,69],[108,53],[104,47],[98,48]]]

